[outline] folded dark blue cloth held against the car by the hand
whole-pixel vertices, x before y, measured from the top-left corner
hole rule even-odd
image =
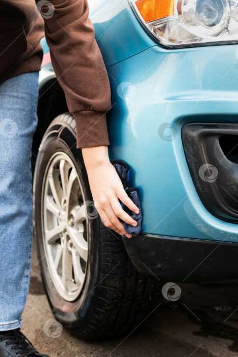
[[[135,221],[137,221],[137,226],[134,227],[133,225],[130,225],[130,224],[122,221],[121,218],[119,218],[119,221],[122,222],[127,234],[132,234],[133,236],[138,236],[138,234],[141,232],[141,223],[142,223],[141,202],[139,200],[136,188],[129,187],[129,168],[125,162],[120,161],[120,160],[112,160],[111,163],[115,167],[115,169],[121,179],[124,190],[127,193],[128,197],[135,203],[135,205],[140,210],[140,212],[138,214],[136,214],[133,211],[129,210],[128,207],[126,207],[124,205],[124,203],[121,200],[119,200],[123,210],[131,218],[133,218],[133,219],[135,219]],[[101,222],[102,222],[102,220],[101,220]]]

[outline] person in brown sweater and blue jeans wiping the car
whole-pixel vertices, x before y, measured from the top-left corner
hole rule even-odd
[[[44,33],[75,119],[95,208],[120,235],[127,234],[119,218],[137,225],[122,210],[119,199],[138,213],[108,156],[110,84],[88,15],[87,0],[0,0],[0,357],[46,356],[20,331],[30,284],[31,147]]]

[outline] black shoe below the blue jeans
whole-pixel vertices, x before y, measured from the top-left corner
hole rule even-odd
[[[32,343],[21,333],[20,328],[0,331],[0,357],[49,357],[41,354]]]

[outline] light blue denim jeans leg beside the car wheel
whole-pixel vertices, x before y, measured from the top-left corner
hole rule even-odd
[[[0,331],[22,324],[29,291],[38,74],[21,74],[0,86]]]

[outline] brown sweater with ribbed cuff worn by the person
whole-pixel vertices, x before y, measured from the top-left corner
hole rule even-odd
[[[0,84],[40,69],[45,37],[52,66],[76,122],[77,147],[110,145],[111,108],[107,70],[88,18],[87,0],[0,0]],[[45,25],[45,26],[44,26]]]

